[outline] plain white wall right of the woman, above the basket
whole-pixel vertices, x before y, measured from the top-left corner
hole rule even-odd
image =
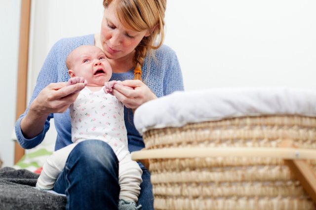
[[[165,43],[187,90],[315,88],[315,10],[315,0],[168,0]]]

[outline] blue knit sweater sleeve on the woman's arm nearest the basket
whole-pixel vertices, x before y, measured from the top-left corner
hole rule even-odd
[[[183,78],[176,53],[169,48],[168,62],[163,78],[163,95],[169,95],[174,91],[183,91]]]

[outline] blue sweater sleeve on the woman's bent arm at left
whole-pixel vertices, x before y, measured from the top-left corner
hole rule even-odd
[[[28,113],[30,105],[34,101],[34,99],[39,95],[40,91],[45,88],[48,84],[57,82],[58,78],[58,72],[57,72],[57,64],[60,60],[59,56],[59,49],[60,49],[61,41],[58,41],[54,44],[54,46],[51,48],[50,52],[48,53],[44,64],[40,70],[38,79],[37,79],[37,84],[35,86],[35,89],[32,94],[31,101],[29,102],[29,105],[27,106],[25,112],[19,117],[15,124],[15,133],[17,140],[19,144],[25,148],[25,149],[30,149],[38,144],[44,139],[45,134],[47,130],[49,129],[49,120],[50,118],[53,117],[53,114],[49,114],[42,132],[34,137],[33,139],[26,139],[21,131],[21,120],[23,117]]]

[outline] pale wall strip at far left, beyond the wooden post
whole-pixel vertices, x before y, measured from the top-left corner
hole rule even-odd
[[[3,166],[12,166],[14,161],[11,136],[15,124],[20,10],[21,0],[0,1],[0,159]]]

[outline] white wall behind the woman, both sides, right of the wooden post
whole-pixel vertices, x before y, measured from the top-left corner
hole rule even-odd
[[[165,44],[178,55],[186,90],[316,88],[315,9],[314,0],[168,0]],[[97,33],[102,12],[102,0],[32,1],[28,98],[51,46]]]

